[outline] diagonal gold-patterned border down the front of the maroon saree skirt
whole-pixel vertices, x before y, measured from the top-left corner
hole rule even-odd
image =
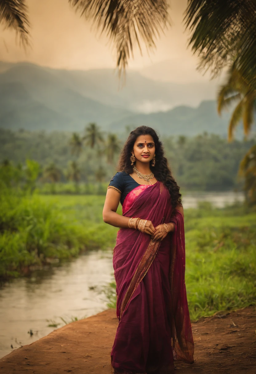
[[[120,308],[119,321],[121,320],[122,314],[124,313],[124,310],[127,304],[129,303],[129,301],[131,300],[131,297],[134,294],[135,290],[137,289],[139,283],[142,281],[142,279],[148,272],[150,266],[152,265],[152,262],[154,258],[156,257],[160,243],[161,243],[161,240],[156,240],[156,241],[153,241],[152,239],[150,240],[150,243],[147,246],[146,252],[142,256],[140,263],[138,264],[138,267],[135,270],[131,283],[129,284],[125,297],[122,301],[121,308]]]

